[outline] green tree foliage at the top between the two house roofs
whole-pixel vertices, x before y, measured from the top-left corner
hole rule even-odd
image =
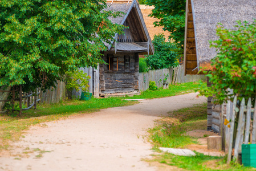
[[[155,26],[163,26],[170,32],[170,39],[174,39],[180,46],[184,45],[186,0],[147,0],[147,5],[155,6],[150,17],[159,19]]]

